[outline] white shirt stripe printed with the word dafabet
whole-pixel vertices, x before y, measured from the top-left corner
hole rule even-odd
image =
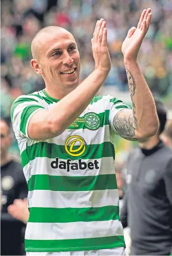
[[[97,160],[99,169],[94,168],[93,170],[88,169],[88,162],[94,163]],[[69,170],[66,169],[53,169],[51,167],[51,162],[55,161],[55,159],[51,158],[36,158],[30,161],[30,174],[48,174],[48,175],[57,175],[57,176],[95,176],[101,174],[114,174],[115,173],[115,165],[114,158],[100,158],[100,159],[85,159],[82,162],[87,163],[87,169],[84,170]],[[59,159],[58,161],[63,161],[67,163],[67,160]],[[78,163],[78,160],[73,160],[71,163]],[[24,173],[27,173],[27,169],[29,167],[26,165],[24,167]]]

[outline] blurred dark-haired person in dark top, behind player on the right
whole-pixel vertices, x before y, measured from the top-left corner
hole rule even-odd
[[[120,220],[130,227],[131,255],[170,255],[172,248],[172,151],[159,136],[166,109],[155,100],[157,135],[139,142],[126,163],[128,184]]]

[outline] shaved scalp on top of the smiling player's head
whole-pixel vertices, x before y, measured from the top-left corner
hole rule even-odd
[[[73,37],[71,32],[64,28],[61,28],[60,26],[46,26],[45,28],[42,28],[32,40],[31,51],[33,59],[39,59],[42,43],[44,43],[44,40],[47,36],[54,36],[54,33],[66,33]]]

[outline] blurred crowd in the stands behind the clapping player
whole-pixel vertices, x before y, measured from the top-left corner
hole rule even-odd
[[[30,44],[36,33],[44,26],[57,25],[75,36],[82,81],[94,68],[91,39],[100,18],[107,21],[112,60],[100,93],[112,94],[130,105],[121,47],[128,29],[137,25],[140,13],[147,7],[151,7],[153,17],[138,62],[153,95],[161,98],[171,113],[172,0],[1,0],[1,117],[10,125],[10,108],[15,98],[44,88],[43,79],[30,67]],[[116,168],[122,170],[134,145],[117,138]],[[20,160],[14,136],[10,153]]]

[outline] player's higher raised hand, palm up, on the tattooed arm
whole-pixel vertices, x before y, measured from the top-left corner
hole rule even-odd
[[[143,10],[137,28],[133,26],[128,30],[127,37],[122,44],[122,53],[125,60],[136,60],[144,36],[151,21],[151,9]]]

